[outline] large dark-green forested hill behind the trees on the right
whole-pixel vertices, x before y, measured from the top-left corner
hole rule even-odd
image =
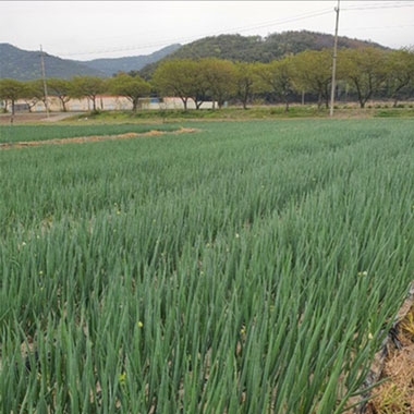
[[[375,42],[351,39],[344,36],[338,37],[339,48],[356,48],[362,46],[374,46],[386,49],[383,46]],[[205,37],[182,46],[163,59],[219,58],[233,61],[267,63],[287,54],[295,54],[307,49],[320,50],[331,47],[333,47],[332,35],[308,31],[275,33],[267,37],[220,35]],[[149,75],[159,62],[145,66],[141,71],[142,74],[144,76]]]

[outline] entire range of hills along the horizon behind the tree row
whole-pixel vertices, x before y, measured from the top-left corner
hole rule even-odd
[[[383,46],[370,41],[338,37],[339,48]],[[333,36],[322,33],[301,31],[275,33],[267,37],[220,35],[205,37],[191,44],[171,45],[148,56],[117,59],[94,59],[75,61],[45,56],[47,77],[70,78],[74,75],[112,76],[117,72],[137,72],[149,78],[159,62],[165,59],[219,58],[245,62],[270,62],[303,50],[320,50],[333,47]],[[41,78],[40,51],[27,51],[9,44],[0,44],[0,78],[20,81]]]

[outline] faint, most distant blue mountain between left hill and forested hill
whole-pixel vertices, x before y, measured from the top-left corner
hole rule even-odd
[[[115,58],[115,59],[94,59],[84,63],[88,68],[100,71],[106,76],[112,76],[117,72],[131,72],[139,71],[145,65],[159,61],[166,56],[174,52],[181,48],[181,45],[174,44],[167,46],[151,54],[142,54],[142,56],[132,56],[125,58]]]

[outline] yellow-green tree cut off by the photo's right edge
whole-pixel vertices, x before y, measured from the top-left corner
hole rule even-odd
[[[397,107],[401,94],[414,84],[414,51],[391,50],[387,53],[388,94]]]

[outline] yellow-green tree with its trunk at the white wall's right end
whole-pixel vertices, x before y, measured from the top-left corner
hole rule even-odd
[[[199,64],[203,83],[212,100],[221,108],[226,100],[235,95],[235,65],[229,60],[217,58],[200,59]]]

